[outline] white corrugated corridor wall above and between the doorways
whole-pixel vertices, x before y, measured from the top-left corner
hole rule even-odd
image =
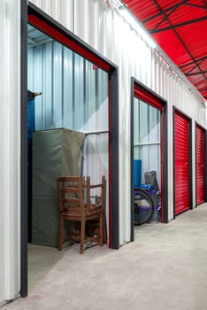
[[[168,171],[169,220],[173,219],[173,105],[193,120],[206,126],[205,108],[197,102],[180,77],[173,72],[156,51],[130,28],[116,11],[103,10],[102,1],[93,0],[33,0],[75,35],[91,44],[119,66],[119,208],[120,243],[130,239],[130,83],[131,76],[168,101]],[[66,8],[66,9],[65,9]],[[123,126],[124,124],[124,126]],[[193,128],[195,130],[195,128]],[[193,150],[195,150],[193,135]],[[195,175],[195,155],[193,169]],[[195,178],[194,178],[195,179]],[[196,184],[194,183],[194,205]]]

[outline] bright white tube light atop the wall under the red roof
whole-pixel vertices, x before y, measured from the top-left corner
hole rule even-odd
[[[119,7],[119,12],[123,16],[123,18],[126,20],[127,23],[139,34],[142,36],[142,39],[146,41],[146,43],[149,44],[149,46],[152,49],[156,48],[156,43],[155,41],[151,38],[151,36],[147,33],[145,29],[143,29],[139,23],[138,20],[134,18],[134,16],[126,9],[126,6],[120,6]]]

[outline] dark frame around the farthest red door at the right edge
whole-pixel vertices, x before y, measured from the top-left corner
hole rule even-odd
[[[201,126],[198,122],[195,121],[195,145],[197,144],[197,135],[196,135],[196,128],[200,127],[203,129],[204,132],[204,201],[207,201],[207,134],[206,134],[206,129],[203,128],[203,126]],[[197,159],[197,147],[196,147],[196,156],[195,159]],[[196,161],[195,160],[195,167],[196,167]],[[196,174],[196,186],[197,186],[197,174]],[[197,190],[196,190],[196,198],[197,198]],[[200,204],[198,204],[200,205]],[[196,206],[197,206],[197,202],[196,202]]]

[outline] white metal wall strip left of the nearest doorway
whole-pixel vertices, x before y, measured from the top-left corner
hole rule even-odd
[[[0,305],[19,294],[20,2],[0,1]],[[15,52],[14,52],[15,51]]]

